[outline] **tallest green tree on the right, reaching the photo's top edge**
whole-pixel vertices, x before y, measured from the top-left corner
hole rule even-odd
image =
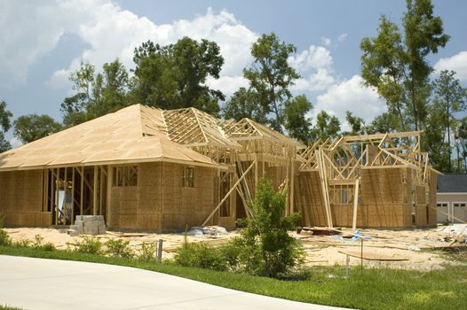
[[[384,97],[388,112],[398,115],[399,129],[418,130],[431,93],[433,69],[427,57],[444,47],[449,36],[443,33],[442,20],[433,16],[431,0],[407,0],[403,35],[385,16],[380,20],[378,35],[361,41],[361,75]]]

